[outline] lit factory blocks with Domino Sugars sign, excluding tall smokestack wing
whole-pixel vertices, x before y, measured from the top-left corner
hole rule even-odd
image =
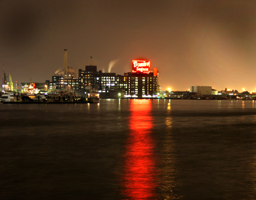
[[[123,76],[116,73],[97,71],[97,66],[88,65],[85,71],[79,70],[79,88],[95,89],[107,97],[110,91],[122,93],[127,97],[152,97],[158,92],[158,71],[151,72],[150,61],[133,60],[132,72]]]

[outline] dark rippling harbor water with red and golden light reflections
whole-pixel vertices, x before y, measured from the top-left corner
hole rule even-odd
[[[0,104],[0,199],[255,199],[256,102]]]

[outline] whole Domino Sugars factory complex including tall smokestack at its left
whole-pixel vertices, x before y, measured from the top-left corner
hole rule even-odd
[[[71,67],[67,67],[67,50],[64,50],[63,73],[53,76],[50,90],[96,90],[101,97],[154,97],[159,92],[158,69],[150,69],[150,61],[133,60],[131,72],[119,75],[97,71],[97,66],[85,66],[79,69],[78,78]]]

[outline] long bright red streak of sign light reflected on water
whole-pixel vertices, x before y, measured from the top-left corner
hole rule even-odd
[[[131,100],[130,112],[122,193],[127,199],[151,199],[155,196],[156,188],[151,101]]]

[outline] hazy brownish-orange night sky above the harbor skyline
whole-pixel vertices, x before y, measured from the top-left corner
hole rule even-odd
[[[18,82],[51,80],[68,49],[77,75],[145,58],[162,90],[256,91],[255,44],[256,1],[0,1],[0,74]]]

